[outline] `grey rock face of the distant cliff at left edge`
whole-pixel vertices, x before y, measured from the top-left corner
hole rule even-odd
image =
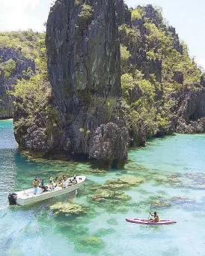
[[[22,79],[23,71],[35,71],[35,63],[26,59],[18,51],[0,47],[0,119],[13,117],[13,100],[7,95],[17,79]]]

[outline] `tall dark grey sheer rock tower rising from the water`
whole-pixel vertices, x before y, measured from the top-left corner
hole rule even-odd
[[[128,144],[123,121],[113,115],[121,96],[115,7],[114,0],[57,1],[46,33],[62,128],[55,149],[114,165],[124,163]]]

